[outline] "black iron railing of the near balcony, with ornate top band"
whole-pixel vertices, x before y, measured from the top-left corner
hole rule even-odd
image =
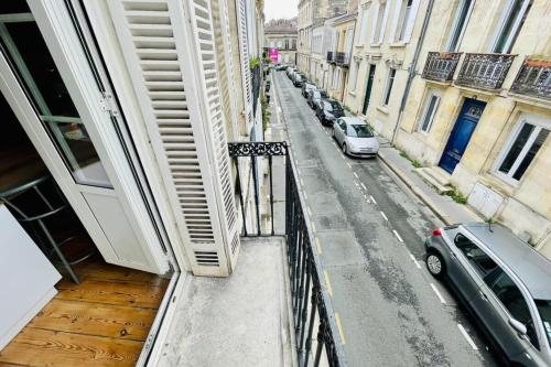
[[[244,223],[242,236],[276,235],[274,223],[278,219],[284,228],[281,235],[287,238],[287,262],[291,288],[291,304],[295,332],[296,356],[299,366],[346,366],[344,349],[335,323],[335,313],[327,291],[322,285],[322,265],[314,248],[314,235],[305,203],[298,186],[296,168],[290,156],[287,142],[230,142],[231,156],[237,175],[236,191]],[[278,162],[274,162],[278,160]],[[283,161],[281,161],[283,160]],[[260,164],[259,164],[260,163]],[[258,172],[264,172],[262,164],[267,163],[266,191],[268,203],[261,203],[261,185]],[[260,170],[260,171],[259,171]],[[241,173],[247,177],[241,177]],[[277,175],[274,177],[274,174]],[[263,174],[260,176],[263,177]],[[251,179],[250,179],[251,177]],[[274,183],[276,181],[276,183]],[[250,184],[244,184],[250,183]],[[273,192],[284,190],[283,203],[277,203],[283,208],[280,218],[276,218]],[[284,187],[283,187],[284,186]],[[248,187],[248,188],[246,188]],[[252,191],[255,213],[247,213],[248,197],[246,191]],[[266,192],[264,192],[266,194]],[[264,208],[264,209],[262,209]],[[261,218],[271,217],[262,230]],[[253,219],[253,228],[247,223]]]

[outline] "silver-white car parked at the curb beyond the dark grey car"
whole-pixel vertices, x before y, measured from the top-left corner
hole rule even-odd
[[[333,137],[343,153],[353,156],[376,156],[379,142],[366,121],[357,117],[342,117],[333,125]]]

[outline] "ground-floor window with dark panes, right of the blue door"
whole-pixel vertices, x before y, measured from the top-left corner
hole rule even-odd
[[[497,172],[501,176],[514,181],[522,179],[526,170],[549,136],[551,123],[547,122],[544,128],[528,121],[526,118],[521,120],[519,128],[511,134],[497,165]]]

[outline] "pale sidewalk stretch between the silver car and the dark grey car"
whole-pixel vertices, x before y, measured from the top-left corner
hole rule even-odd
[[[431,185],[417,174],[411,162],[400,155],[389,141],[377,137],[380,142],[380,160],[446,225],[466,222],[483,222],[466,205],[455,203],[450,196],[440,195]]]

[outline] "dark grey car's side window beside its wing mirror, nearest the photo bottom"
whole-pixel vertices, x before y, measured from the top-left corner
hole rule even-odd
[[[520,289],[500,268],[497,271],[497,276],[491,274],[491,277],[488,278],[489,279],[485,279],[485,281],[488,283],[491,292],[499,299],[499,301],[501,301],[503,305],[515,320],[518,320],[526,325],[530,343],[539,349],[538,336],[533,327],[530,309],[528,307]]]

